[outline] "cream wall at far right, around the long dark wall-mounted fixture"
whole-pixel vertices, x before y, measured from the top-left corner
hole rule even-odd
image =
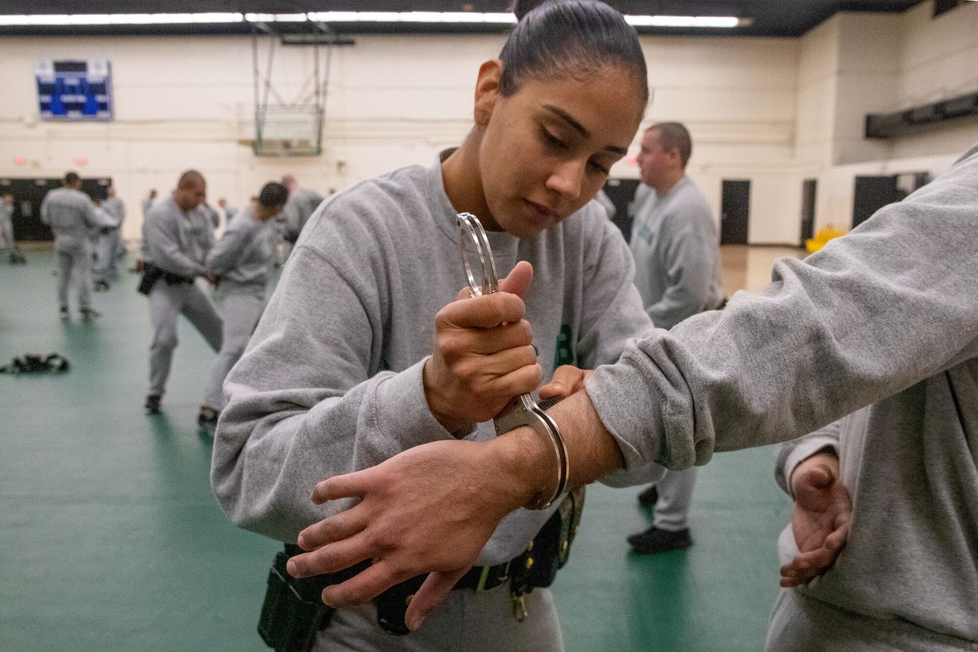
[[[818,175],[816,224],[848,229],[856,176],[922,171],[937,176],[978,142],[978,118],[882,142],[861,136],[867,113],[900,111],[978,90],[978,2],[936,19],[932,0],[895,16],[840,14],[803,41],[820,30],[840,37],[831,100],[832,164]]]

